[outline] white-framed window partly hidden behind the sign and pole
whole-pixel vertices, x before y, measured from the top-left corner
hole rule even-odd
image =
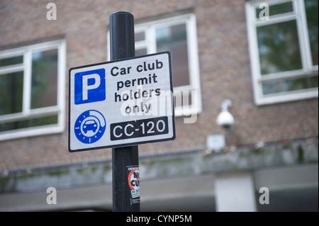
[[[201,113],[196,18],[193,14],[135,23],[135,56],[164,51],[172,54],[175,115]]]

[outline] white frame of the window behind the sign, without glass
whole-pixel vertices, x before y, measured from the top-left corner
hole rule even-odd
[[[174,93],[179,92],[179,95],[186,94],[186,91],[191,92],[191,104],[182,104],[182,106],[175,107],[176,116],[189,116],[199,114],[202,111],[201,105],[201,84],[199,76],[198,64],[198,47],[197,47],[197,31],[196,31],[196,16],[193,13],[185,13],[183,15],[162,18],[153,21],[135,24],[135,33],[145,31],[145,40],[135,42],[135,50],[146,48],[147,54],[157,52],[156,47],[156,28],[163,26],[174,26],[181,23],[186,24],[187,50],[189,59],[189,85],[175,86]],[[108,32],[108,37],[109,37]],[[110,41],[108,38],[108,46]],[[110,60],[110,51],[108,50],[108,60]],[[174,67],[174,62],[172,67]],[[174,74],[173,74],[174,79]],[[188,102],[188,98],[186,98]]]

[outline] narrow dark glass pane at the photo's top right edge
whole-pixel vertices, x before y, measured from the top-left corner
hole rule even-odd
[[[318,0],[305,0],[308,34],[313,65],[318,65]]]

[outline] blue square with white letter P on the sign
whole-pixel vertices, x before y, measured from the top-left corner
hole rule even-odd
[[[74,74],[74,103],[104,101],[106,98],[105,69]]]

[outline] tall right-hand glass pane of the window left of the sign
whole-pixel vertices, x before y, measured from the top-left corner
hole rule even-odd
[[[57,50],[33,52],[31,108],[57,105]]]

